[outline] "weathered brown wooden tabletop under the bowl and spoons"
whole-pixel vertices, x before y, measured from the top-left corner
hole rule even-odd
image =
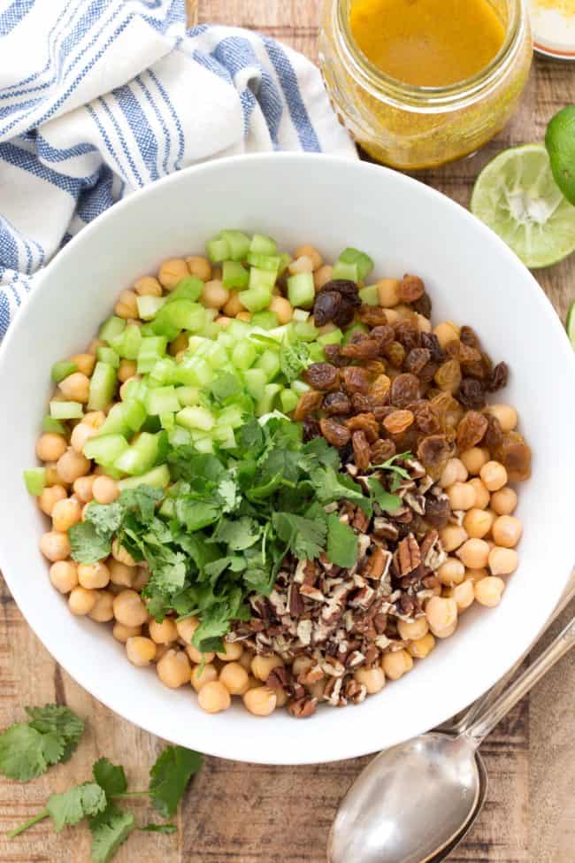
[[[200,0],[199,19],[263,31],[315,58],[319,6],[320,0]],[[511,144],[541,141],[548,119],[570,102],[575,102],[575,65],[536,58],[521,106],[502,135],[477,156],[420,178],[460,204],[468,204],[472,182],[487,159]],[[536,275],[564,320],[575,296],[575,256]],[[71,762],[27,785],[0,782],[0,860],[85,863],[89,839],[82,829],[55,836],[43,822],[13,842],[6,841],[4,834],[41,809],[52,791],[88,779],[91,764],[100,755],[124,763],[133,788],[145,787],[161,742],[98,704],[58,667],[28,628],[4,582],[0,609],[0,727],[21,720],[23,705],[50,701],[70,705],[88,720],[87,733]],[[574,611],[571,605],[571,614]],[[563,614],[563,621],[568,614]],[[301,730],[295,723],[294,734]],[[487,805],[465,843],[449,858],[451,863],[573,863],[574,730],[575,657],[571,656],[484,744],[491,780]],[[136,859],[145,863],[323,863],[337,805],[368,760],[257,767],[206,759],[203,773],[181,807],[178,832],[173,836],[136,833],[114,859],[118,863]]]

